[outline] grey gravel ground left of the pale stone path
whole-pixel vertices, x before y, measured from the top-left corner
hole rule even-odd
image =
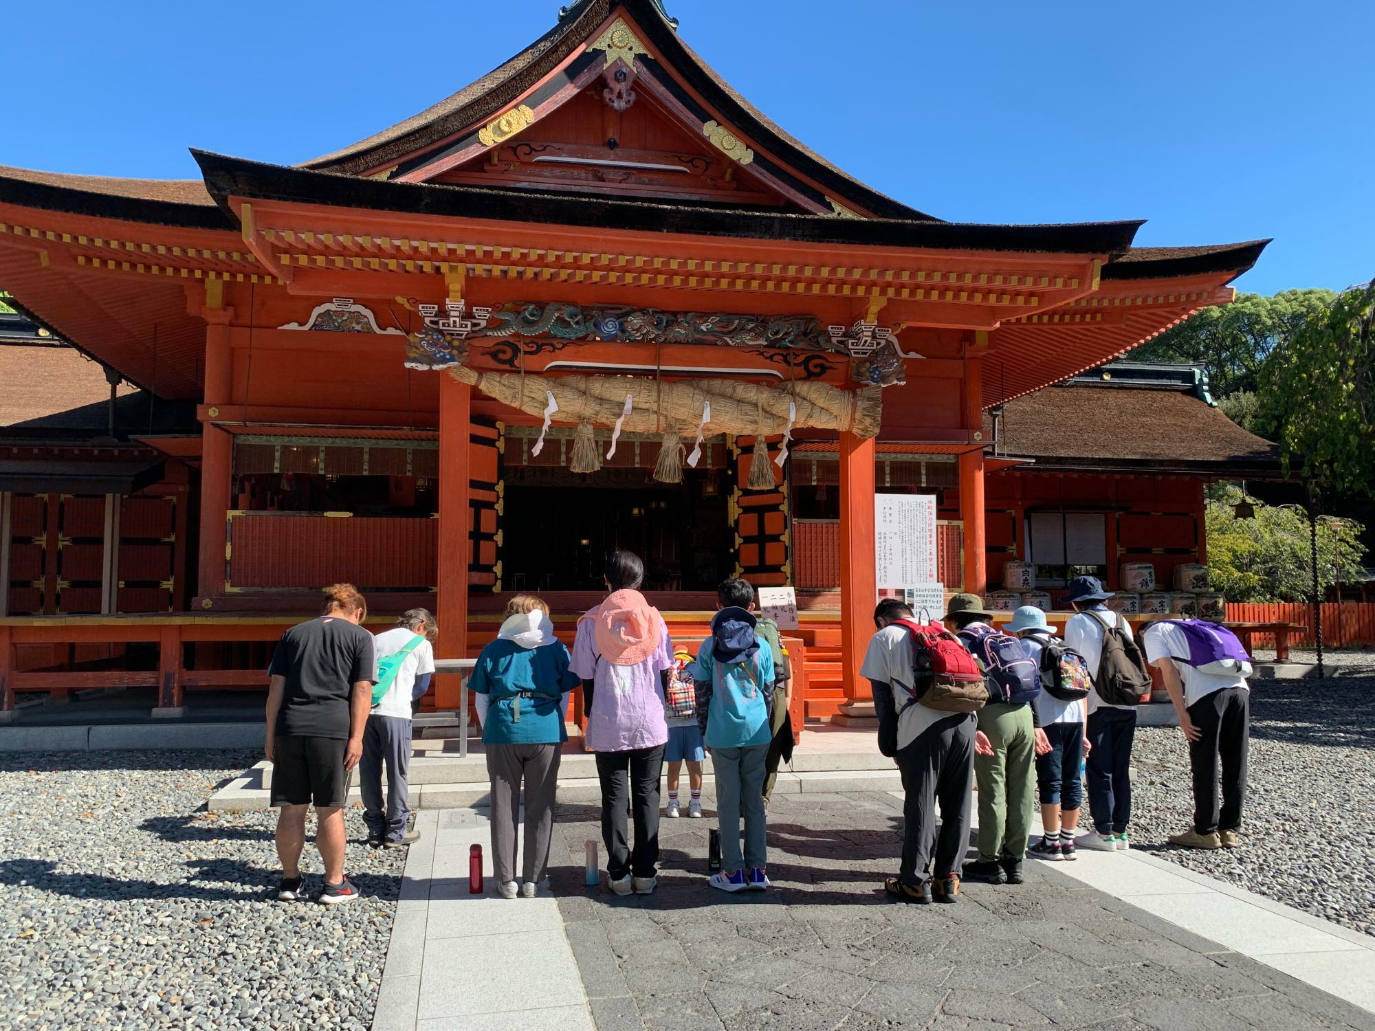
[[[0,756],[0,1027],[370,1024],[404,850],[351,841],[356,903],[276,902],[275,814],[199,811],[256,757]]]

